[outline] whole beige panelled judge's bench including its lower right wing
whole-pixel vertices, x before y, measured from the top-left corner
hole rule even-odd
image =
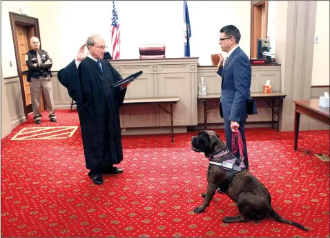
[[[123,135],[186,132],[188,128],[204,128],[204,101],[197,98],[201,77],[206,83],[207,95],[220,95],[221,77],[216,66],[198,66],[198,58],[163,58],[163,59],[119,59],[109,60],[113,67],[127,77],[142,70],[144,73],[128,86],[124,105],[121,108],[121,126]],[[281,92],[280,65],[252,66],[251,94],[262,93],[262,86],[271,81],[272,91]],[[269,95],[268,95],[269,96]],[[255,99],[258,115],[250,115],[247,124],[274,123],[274,110],[282,110],[280,100],[273,98]],[[157,103],[158,99],[175,98],[175,103]],[[129,103],[135,99],[135,103]],[[148,99],[148,100],[146,100]],[[142,100],[142,103],[139,103]],[[222,127],[217,98],[207,101],[208,128]],[[276,101],[278,104],[276,104]],[[148,103],[150,102],[150,103]],[[169,116],[173,107],[173,127]],[[167,111],[167,112],[166,112]]]

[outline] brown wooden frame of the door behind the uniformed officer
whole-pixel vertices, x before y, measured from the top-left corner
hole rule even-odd
[[[23,100],[24,115],[26,117],[26,120],[28,120],[28,108],[26,106],[24,82],[23,82],[23,75],[22,75],[22,71],[21,71],[21,57],[19,55],[19,46],[18,46],[19,41],[17,39],[17,34],[16,34],[16,30],[17,30],[16,24],[23,25],[23,26],[34,26],[35,27],[35,37],[38,37],[38,39],[40,41],[40,48],[41,48],[39,20],[35,17],[28,17],[26,15],[18,14],[15,12],[9,12],[9,18],[10,18],[10,26],[12,28],[12,39],[14,40],[14,50],[15,50],[17,72],[19,74],[19,81],[21,83],[21,94],[22,94],[22,100]]]

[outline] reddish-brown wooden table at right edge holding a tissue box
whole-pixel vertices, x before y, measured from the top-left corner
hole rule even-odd
[[[297,150],[300,115],[305,115],[315,121],[324,124],[325,126],[330,126],[330,108],[322,108],[318,106],[319,99],[295,100],[293,103],[295,103],[295,140],[293,150]]]

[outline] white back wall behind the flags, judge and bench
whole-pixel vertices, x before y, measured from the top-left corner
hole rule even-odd
[[[240,29],[240,46],[250,54],[250,1],[188,1],[191,20],[191,57],[211,65],[211,54],[220,52],[219,31],[233,24]],[[139,45],[164,43],[166,57],[184,57],[183,1],[115,1],[121,24],[120,59],[139,58]],[[30,8],[39,19],[41,46],[60,70],[75,58],[93,33],[110,45],[112,1],[3,1],[1,2],[1,62],[3,77],[17,75],[8,11]],[[48,10],[47,10],[48,9]],[[139,10],[137,10],[139,9]],[[13,66],[10,68],[9,61]]]

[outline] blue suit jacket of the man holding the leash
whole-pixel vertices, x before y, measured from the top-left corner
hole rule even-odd
[[[222,77],[220,96],[222,117],[237,122],[246,120],[246,99],[250,97],[251,87],[249,57],[240,47],[236,48],[217,74]]]

